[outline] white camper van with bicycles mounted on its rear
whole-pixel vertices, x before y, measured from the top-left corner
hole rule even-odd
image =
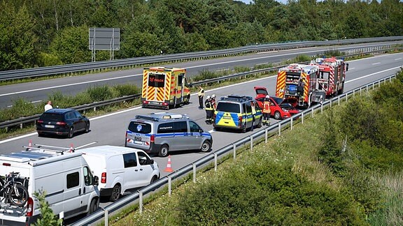
[[[39,145],[39,144],[36,144]],[[57,148],[57,149],[53,149]],[[0,156],[0,176],[18,172],[29,194],[27,204],[15,206],[1,203],[0,225],[29,225],[41,212],[33,193],[46,192],[53,213],[71,218],[98,209],[98,177],[92,176],[82,153],[67,153],[69,149],[52,146]]]

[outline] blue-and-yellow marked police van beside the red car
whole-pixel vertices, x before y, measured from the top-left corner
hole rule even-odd
[[[251,96],[230,95],[222,97],[217,102],[213,114],[215,130],[229,128],[241,130],[262,127],[262,110]]]

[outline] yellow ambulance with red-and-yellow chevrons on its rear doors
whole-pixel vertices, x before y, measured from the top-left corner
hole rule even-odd
[[[169,110],[181,104],[188,104],[190,89],[186,85],[185,68],[144,68],[142,107]]]

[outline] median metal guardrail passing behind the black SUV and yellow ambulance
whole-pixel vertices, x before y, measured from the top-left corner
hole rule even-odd
[[[349,53],[352,54],[348,54],[348,55],[344,55],[343,57],[354,57],[356,55],[360,55],[360,54],[369,54],[369,53],[383,53],[389,50],[403,50],[403,47],[397,47],[397,48],[387,48],[387,49],[383,49],[383,46],[377,46],[377,47],[365,47],[365,51],[362,51],[361,49],[356,49],[356,50],[348,50]],[[388,47],[390,47],[388,45]],[[343,58],[343,57],[338,57],[338,58]],[[309,62],[301,62],[301,63],[309,63]],[[269,73],[272,70],[278,70],[279,68],[283,68],[283,66],[277,66],[277,67],[272,67],[272,68],[263,68],[263,69],[258,69],[258,70],[252,70],[252,71],[248,71],[248,72],[244,72],[244,73],[236,73],[233,75],[225,75],[222,77],[216,77],[210,80],[201,80],[198,82],[192,82],[192,86],[197,86],[199,84],[208,84],[208,83],[212,83],[212,82],[220,82],[223,80],[229,80],[232,78],[236,78],[236,77],[246,77],[249,75],[256,75],[256,74],[261,74],[261,73]],[[139,98],[141,96],[141,94],[134,94],[134,95],[130,95],[130,96],[123,96],[120,98],[115,98],[112,100],[104,100],[104,101],[100,101],[100,102],[95,102],[95,103],[90,103],[90,104],[85,104],[85,105],[80,105],[80,106],[76,106],[76,107],[69,107],[71,109],[75,109],[75,110],[79,110],[79,111],[85,111],[85,110],[96,110],[97,107],[103,107],[106,105],[111,105],[113,103],[119,103],[122,101],[129,101],[129,100],[133,100],[136,98]],[[8,127],[10,126],[17,126],[20,125],[20,128],[22,128],[24,123],[33,123],[36,120],[39,119],[39,116],[41,116],[41,114],[36,114],[34,116],[27,116],[27,117],[22,117],[20,119],[13,119],[10,121],[3,121],[0,123],[0,128],[6,128],[6,130],[8,129]]]

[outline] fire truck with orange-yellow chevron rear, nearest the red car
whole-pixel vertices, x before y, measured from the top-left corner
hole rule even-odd
[[[292,63],[280,68],[277,75],[276,96],[297,98],[299,107],[309,107],[312,103],[325,100],[326,94],[316,90],[318,75],[317,65]]]

